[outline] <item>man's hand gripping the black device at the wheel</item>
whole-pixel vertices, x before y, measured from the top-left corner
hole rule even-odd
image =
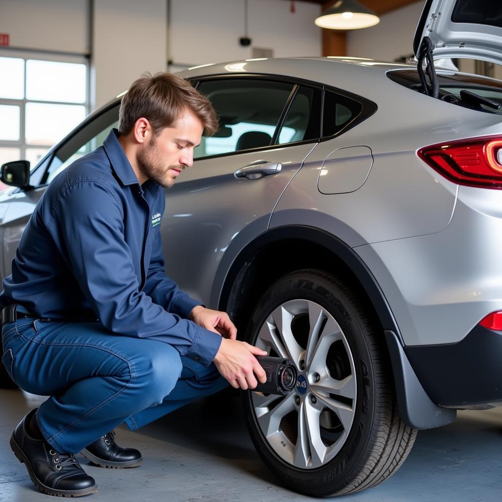
[[[255,374],[262,384],[267,382],[267,373],[255,355],[267,352],[247,342],[223,339],[213,362],[235,389],[255,389],[258,385]]]

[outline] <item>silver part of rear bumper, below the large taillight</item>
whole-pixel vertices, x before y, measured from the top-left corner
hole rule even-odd
[[[462,186],[443,232],[354,250],[385,291],[405,344],[434,345],[462,340],[502,309],[501,248],[502,192]]]

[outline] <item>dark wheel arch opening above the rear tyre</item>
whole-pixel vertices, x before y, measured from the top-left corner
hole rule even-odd
[[[359,256],[336,236],[306,225],[276,227],[245,245],[224,279],[218,308],[239,323],[261,292],[284,274],[303,268],[321,268],[350,281],[369,300],[382,328],[400,336],[380,286]]]

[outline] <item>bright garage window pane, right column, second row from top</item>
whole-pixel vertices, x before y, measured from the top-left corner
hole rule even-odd
[[[85,106],[26,103],[26,143],[53,145],[85,118]]]

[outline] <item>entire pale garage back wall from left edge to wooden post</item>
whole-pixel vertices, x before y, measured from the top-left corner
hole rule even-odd
[[[321,30],[314,25],[320,6],[297,0],[171,0],[168,51],[168,0],[0,0],[0,33],[11,48],[89,56],[91,110],[106,103],[143,72],[172,71],[203,63],[252,57],[252,47],[274,56],[320,56]]]

